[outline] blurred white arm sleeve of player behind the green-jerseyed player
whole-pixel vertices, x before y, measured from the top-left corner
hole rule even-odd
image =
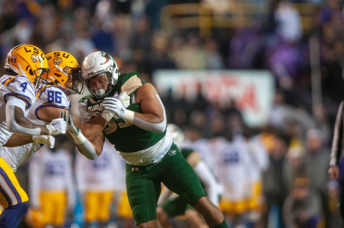
[[[205,185],[208,198],[216,206],[219,205],[219,186],[211,169],[201,160],[193,167],[198,178]]]

